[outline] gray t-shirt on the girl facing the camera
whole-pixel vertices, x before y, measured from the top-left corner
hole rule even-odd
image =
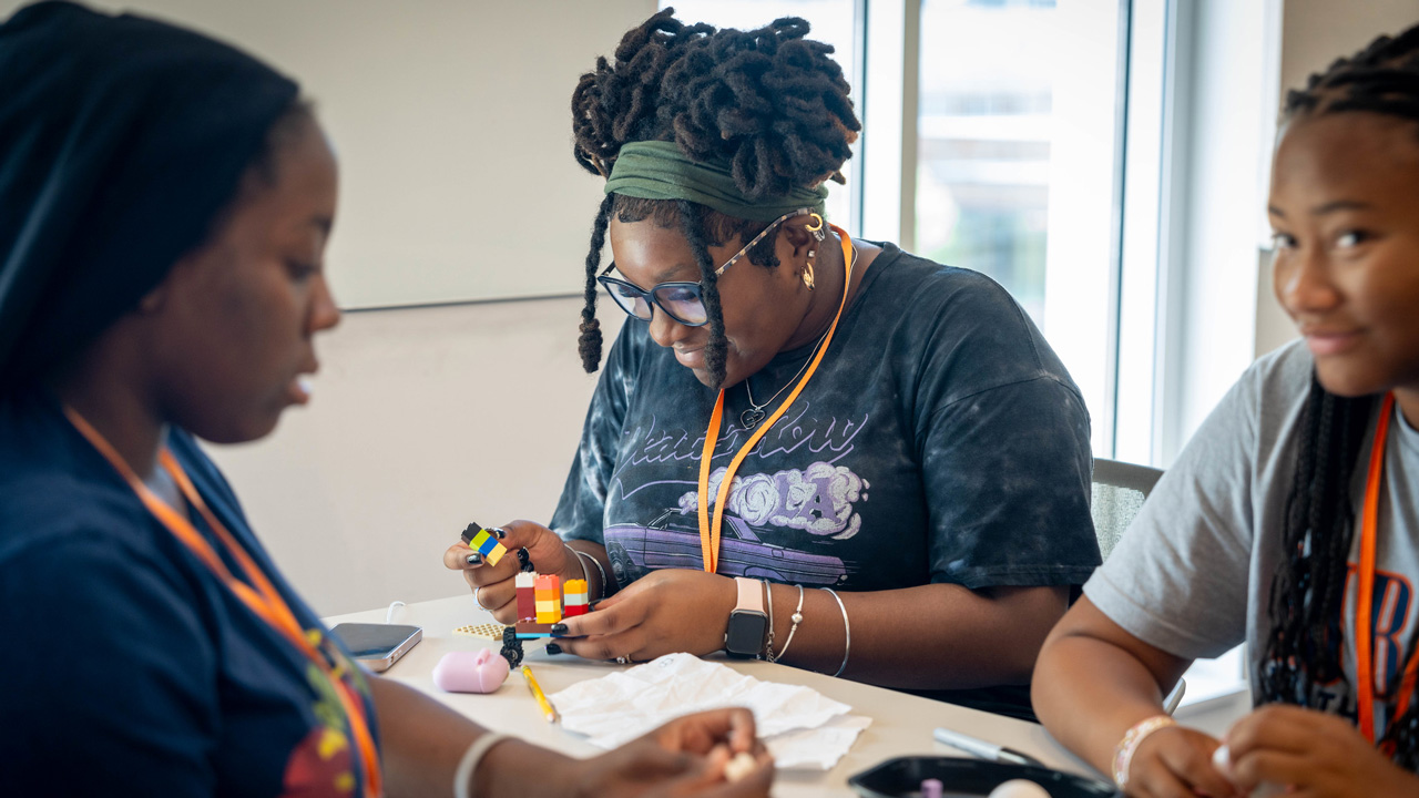
[[[1253,700],[1271,635],[1271,578],[1281,557],[1286,498],[1296,470],[1301,409],[1314,361],[1301,342],[1257,361],[1164,474],[1118,547],[1084,585],[1108,618],[1138,639],[1186,659],[1249,643]],[[1376,413],[1378,415],[1378,413]],[[1364,503],[1375,419],[1355,467]],[[1395,410],[1385,446],[1375,567],[1375,723],[1389,723],[1406,655],[1416,645],[1419,432]],[[1358,528],[1358,527],[1357,527]],[[1345,588],[1345,679],[1318,686],[1313,706],[1354,720],[1355,562]]]

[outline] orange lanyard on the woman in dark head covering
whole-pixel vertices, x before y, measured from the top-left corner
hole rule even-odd
[[[365,795],[368,798],[382,795],[383,780],[379,771],[379,751],[375,748],[375,737],[370,733],[369,721],[365,717],[363,701],[355,694],[355,690],[346,684],[343,679],[336,676],[331,663],[326,662],[325,656],[322,656],[319,650],[316,650],[312,643],[312,636],[318,640],[319,632],[315,629],[307,630],[301,626],[295,613],[291,612],[291,606],[285,603],[285,599],[281,598],[281,594],[267,578],[265,572],[261,571],[257,562],[251,559],[251,555],[241,548],[241,544],[231,535],[231,532],[221,525],[217,515],[207,508],[207,503],[203,501],[201,494],[197,493],[197,488],[192,484],[192,480],[187,479],[187,473],[183,471],[182,464],[177,463],[177,459],[173,457],[172,452],[169,452],[167,447],[163,447],[159,453],[159,461],[162,463],[163,470],[166,470],[172,476],[173,481],[177,483],[177,488],[182,490],[187,501],[197,508],[203,520],[207,523],[207,527],[216,532],[221,545],[228,554],[233,555],[233,558],[236,558],[236,561],[241,565],[243,572],[245,572],[251,585],[255,585],[255,588],[233,576],[231,571],[227,569],[226,562],[223,562],[221,557],[217,555],[217,551],[211,548],[211,544],[207,542],[207,538],[201,537],[187,518],[169,507],[167,503],[149,490],[149,487],[138,479],[138,474],[128,467],[128,463],[119,457],[118,452],[114,450],[108,440],[105,440],[104,436],[94,429],[87,419],[84,419],[84,416],[72,408],[64,408],[64,415],[68,416],[74,427],[78,429],[91,444],[94,444],[94,449],[98,449],[99,454],[102,454],[109,464],[112,464],[114,469],[118,470],[125,480],[128,480],[129,487],[132,487],[133,493],[138,494],[143,507],[146,507],[155,518],[162,521],[173,537],[186,544],[193,555],[196,555],[197,559],[201,559],[207,568],[211,569],[219,579],[221,579],[227,589],[236,594],[237,598],[240,598],[241,602],[257,615],[257,618],[265,621],[267,625],[280,632],[281,636],[305,655],[305,657],[325,674],[325,677],[335,687],[335,694],[339,697],[345,716],[349,720],[350,731],[359,745],[360,757],[363,758]],[[342,669],[343,666],[345,665],[342,663]]]

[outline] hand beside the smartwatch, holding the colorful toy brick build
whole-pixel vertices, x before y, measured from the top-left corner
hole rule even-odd
[[[704,571],[664,568],[631,582],[596,605],[596,612],[566,618],[556,645],[586,659],[634,662],[724,647],[724,630],[738,601],[734,579]]]

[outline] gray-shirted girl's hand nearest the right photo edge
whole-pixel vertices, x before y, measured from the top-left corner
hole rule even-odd
[[[1229,777],[1243,795],[1260,784],[1288,795],[1419,795],[1419,775],[1381,754],[1348,720],[1286,704],[1243,717],[1227,731]]]

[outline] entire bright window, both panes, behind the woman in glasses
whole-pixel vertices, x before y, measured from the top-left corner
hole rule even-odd
[[[830,186],[829,214],[1000,283],[1080,386],[1095,454],[1112,456],[1131,3],[667,4],[722,27],[802,16],[836,47],[863,139],[847,186]],[[1162,50],[1148,58],[1161,64]],[[1154,321],[1151,308],[1137,315],[1130,329]]]

